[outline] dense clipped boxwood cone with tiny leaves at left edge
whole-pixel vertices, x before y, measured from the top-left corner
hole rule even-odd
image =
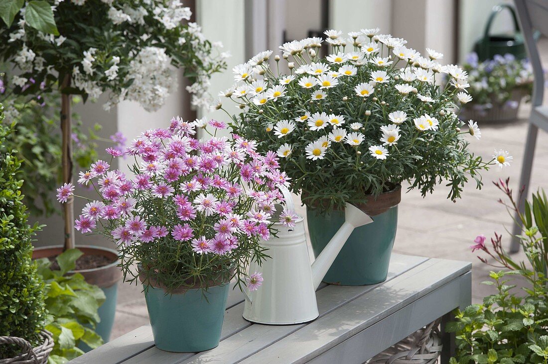
[[[17,175],[21,162],[5,144],[11,130],[1,124],[2,119],[0,104],[0,336],[21,337],[37,345],[46,318],[44,282],[31,259],[31,238],[39,227],[27,224],[20,191],[23,181]],[[19,349],[1,345],[0,358],[13,357]]]

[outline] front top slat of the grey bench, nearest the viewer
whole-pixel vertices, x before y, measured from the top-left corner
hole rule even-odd
[[[426,294],[457,279],[470,269],[471,263],[429,259],[411,269],[407,274],[376,287],[260,350],[242,363],[287,364],[309,361],[372,326],[375,322],[385,319]],[[435,318],[432,316],[432,320]]]

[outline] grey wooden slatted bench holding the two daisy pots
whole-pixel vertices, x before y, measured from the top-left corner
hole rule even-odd
[[[71,363],[363,363],[419,328],[471,302],[467,262],[392,256],[388,278],[372,286],[318,288],[319,317],[300,325],[267,326],[242,318],[233,291],[220,345],[203,353],[168,353],[154,346],[150,326],[112,340]],[[442,363],[454,340],[443,334]]]

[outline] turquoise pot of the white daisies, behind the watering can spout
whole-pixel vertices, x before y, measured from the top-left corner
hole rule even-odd
[[[326,247],[344,222],[343,211],[330,216],[306,209],[314,256]],[[346,240],[323,281],[344,286],[372,285],[386,280],[392,246],[396,238],[398,207],[373,216],[373,222],[356,228]]]

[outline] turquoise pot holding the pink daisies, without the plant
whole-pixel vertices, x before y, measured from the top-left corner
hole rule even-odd
[[[162,288],[145,290],[154,343],[158,349],[192,353],[215,348],[221,338],[230,285],[165,294]]]

